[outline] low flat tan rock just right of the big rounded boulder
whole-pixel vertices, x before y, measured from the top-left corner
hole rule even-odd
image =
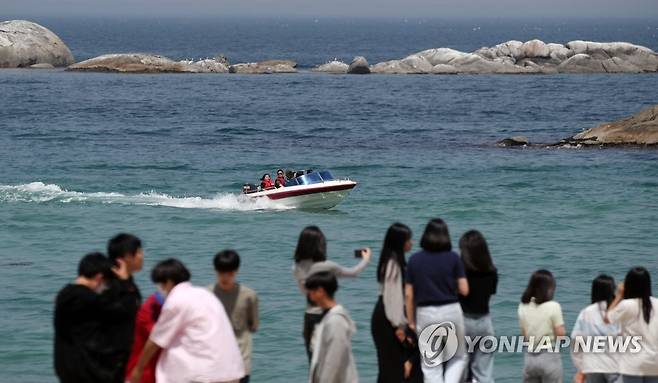
[[[228,73],[221,61],[174,61],[146,53],[112,53],[81,61],[67,68],[70,71],[121,73]]]

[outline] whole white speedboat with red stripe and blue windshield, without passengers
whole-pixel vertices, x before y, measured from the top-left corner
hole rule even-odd
[[[331,209],[341,203],[354,189],[356,182],[336,179],[328,171],[311,172],[286,181],[284,187],[251,191],[243,189],[250,198],[268,198],[298,209]]]

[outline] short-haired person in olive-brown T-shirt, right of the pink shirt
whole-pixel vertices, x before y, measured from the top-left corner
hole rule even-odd
[[[240,256],[235,250],[220,251],[213,260],[217,283],[210,290],[224,305],[226,314],[231,319],[233,332],[240,347],[244,362],[245,377],[240,383],[249,383],[251,374],[251,354],[253,344],[251,334],[258,330],[258,296],[249,287],[237,283],[235,277],[240,268]]]

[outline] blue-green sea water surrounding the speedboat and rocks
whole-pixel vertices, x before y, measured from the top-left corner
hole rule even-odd
[[[449,22],[269,20],[39,21],[78,59],[148,50],[174,58],[223,52],[232,61],[338,56],[372,62],[416,50],[471,50],[511,38],[627,40],[658,49],[658,21]],[[478,29],[479,28],[479,29]],[[235,60],[233,59],[235,58]],[[492,314],[518,333],[516,307],[532,271],[557,278],[567,330],[600,272],[646,266],[658,278],[658,151],[504,149],[516,134],[552,142],[658,101],[658,76],[342,76],[297,73],[118,75],[0,71],[0,381],[52,382],[52,309],[79,258],[119,231],[145,243],[137,282],[177,257],[193,282],[213,281],[212,256],[232,247],[239,279],[261,299],[253,381],[300,382],[304,299],[292,278],[301,229],[319,225],[329,258],[375,255],[391,223],[414,231],[444,218],[453,244],[476,228],[500,272]],[[336,209],[254,204],[243,182],[278,167],[331,169],[359,186]],[[418,246],[415,246],[418,249]],[[414,249],[414,250],[415,250]],[[370,315],[373,264],[341,280],[357,323],[361,379],[376,377]],[[658,286],[654,283],[654,288]],[[522,355],[496,356],[516,382]],[[564,355],[565,378],[573,368]]]

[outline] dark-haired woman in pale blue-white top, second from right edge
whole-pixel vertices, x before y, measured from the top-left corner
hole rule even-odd
[[[615,336],[619,326],[605,323],[605,313],[615,298],[615,280],[601,274],[592,281],[591,304],[585,307],[571,330],[573,344],[591,336]],[[582,341],[581,340],[581,341]],[[577,383],[615,383],[619,381],[617,357],[609,352],[582,352],[572,348],[571,359],[578,370]]]

